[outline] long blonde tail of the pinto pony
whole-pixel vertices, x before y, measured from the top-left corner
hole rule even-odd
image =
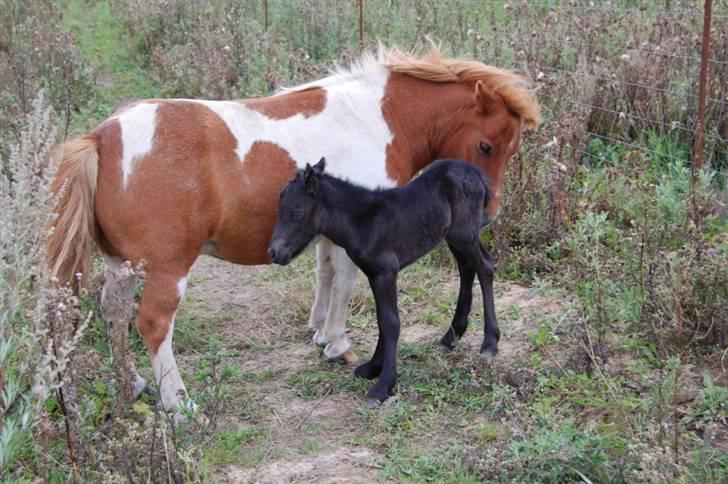
[[[52,189],[57,199],[47,243],[51,275],[60,284],[78,289],[88,275],[98,238],[94,204],[99,170],[96,138],[86,136],[57,148],[60,164]],[[81,277],[76,274],[80,273]]]

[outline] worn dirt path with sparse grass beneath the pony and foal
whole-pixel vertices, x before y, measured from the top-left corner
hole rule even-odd
[[[383,449],[365,442],[361,437],[366,431],[357,423],[367,383],[356,381],[351,368],[325,362],[311,342],[306,320],[313,294],[308,270],[312,261],[299,264],[298,269],[243,267],[201,258],[193,268],[183,317],[199,324],[213,321],[211,335],[245,375],[233,393],[247,403],[241,411],[226,411],[223,421],[230,426],[254,425],[265,435],[252,450],[241,449],[248,455],[260,452],[259,457],[211,466],[221,482],[371,482],[382,469]],[[369,296],[363,278],[358,282],[354,301],[361,312]],[[447,273],[437,286],[452,298],[457,296],[456,275]],[[473,311],[482,314],[479,299],[474,297]],[[528,351],[529,321],[534,315],[544,308],[558,310],[512,284],[497,284],[496,308],[502,330],[500,364],[518,361]],[[421,309],[415,305],[403,315],[404,344],[432,344],[445,330],[413,322]],[[375,344],[376,323],[371,314],[364,324],[361,319],[349,326],[349,335],[357,354],[365,358]],[[471,330],[456,353],[477,355],[482,326],[475,321],[471,316]],[[179,353],[183,374],[190,380],[199,355],[185,349]],[[245,411],[251,406],[253,420]]]

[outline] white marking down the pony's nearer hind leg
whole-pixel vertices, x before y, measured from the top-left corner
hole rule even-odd
[[[177,293],[179,295],[179,304],[187,289],[187,277],[181,278],[177,282]],[[154,370],[154,378],[159,385],[159,393],[161,394],[162,406],[165,410],[175,408],[181,401],[187,398],[187,388],[185,387],[182,377],[180,377],[177,362],[172,352],[172,335],[174,334],[174,318],[177,315],[175,311],[172,320],[169,322],[167,334],[164,341],[159,345],[157,353],[152,357],[152,369]]]

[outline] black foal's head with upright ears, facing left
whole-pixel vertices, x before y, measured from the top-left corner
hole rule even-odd
[[[316,188],[326,168],[326,160],[306,164],[281,192],[278,220],[273,229],[268,257],[286,265],[316,236]]]

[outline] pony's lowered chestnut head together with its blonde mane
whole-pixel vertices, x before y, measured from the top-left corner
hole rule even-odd
[[[451,97],[430,101],[447,110],[431,135],[430,155],[459,158],[483,170],[493,187],[488,212],[495,217],[508,160],[519,152],[524,130],[541,121],[532,83],[510,70],[444,57],[435,44],[422,57],[397,50],[384,55],[392,72],[448,83]]]

